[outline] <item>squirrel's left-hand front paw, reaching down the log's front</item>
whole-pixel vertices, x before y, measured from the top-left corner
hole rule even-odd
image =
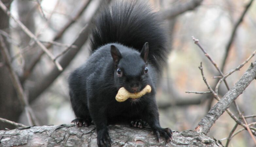
[[[112,141],[109,137],[109,133],[107,129],[101,129],[98,131],[97,144],[98,144],[98,147],[112,146]]]

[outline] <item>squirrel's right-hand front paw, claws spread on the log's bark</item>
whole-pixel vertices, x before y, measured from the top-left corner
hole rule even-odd
[[[160,136],[164,137],[167,142],[172,140],[172,130],[170,128],[157,128],[153,131],[156,134],[158,142],[160,142]]]

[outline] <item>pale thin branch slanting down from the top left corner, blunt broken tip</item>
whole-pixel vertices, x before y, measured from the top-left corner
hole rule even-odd
[[[50,57],[50,59],[55,63],[55,65],[57,66],[58,70],[62,71],[62,67],[60,66],[60,63],[58,61],[54,61],[54,56],[52,55],[52,53],[37,39],[37,37],[29,31],[29,29],[18,19],[16,19],[8,10],[8,8],[6,8],[6,6],[4,5],[4,3],[0,0],[0,8],[2,8],[2,10],[10,17],[12,18],[20,27],[21,29],[31,38],[33,39],[38,46],[47,54],[48,57]]]

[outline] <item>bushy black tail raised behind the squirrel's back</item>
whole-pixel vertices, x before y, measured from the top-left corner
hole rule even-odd
[[[161,72],[168,55],[166,30],[161,24],[158,14],[147,4],[135,0],[117,1],[103,8],[96,18],[92,51],[114,42],[141,51],[148,42],[148,62]]]

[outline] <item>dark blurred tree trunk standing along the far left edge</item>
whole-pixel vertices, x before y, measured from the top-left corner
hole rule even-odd
[[[2,0],[2,2],[8,8],[10,8],[12,1]],[[0,29],[7,32],[9,31],[9,17],[2,11],[2,9],[0,9]],[[5,43],[9,48],[9,43],[7,41],[5,41]],[[17,122],[22,111],[21,105],[9,77],[9,71],[4,65],[1,54],[0,62],[3,63],[3,66],[0,67],[0,117]],[[4,128],[11,129],[14,128],[14,126],[0,122],[0,130]]]

